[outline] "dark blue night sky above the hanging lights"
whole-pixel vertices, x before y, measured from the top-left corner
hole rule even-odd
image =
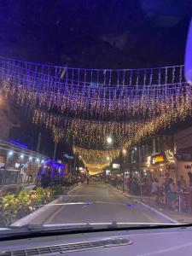
[[[70,67],[183,64],[190,16],[191,0],[0,0],[0,51]],[[35,141],[30,127],[15,137]],[[43,143],[49,154],[48,133]]]

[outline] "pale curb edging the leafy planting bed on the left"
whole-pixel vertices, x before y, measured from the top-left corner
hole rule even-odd
[[[75,188],[69,190],[67,192],[67,194],[72,193],[75,189],[78,189],[80,185],[76,186]],[[26,224],[30,224],[30,222],[32,222],[34,219],[38,218],[41,214],[44,214],[45,212],[47,212],[47,206],[52,205],[52,204],[56,204],[59,203],[62,199],[63,199],[64,195],[61,195],[59,198],[55,199],[54,201],[50,201],[48,204],[44,205],[44,207],[40,207],[38,210],[35,210],[34,212],[26,215],[23,218],[20,218],[19,220],[15,221],[13,224],[11,224],[10,226],[16,226],[16,227],[20,227]],[[52,209],[53,212],[55,212],[55,207],[53,207]],[[48,212],[49,215],[51,214],[50,212]],[[46,218],[46,215],[44,214],[44,218]]]

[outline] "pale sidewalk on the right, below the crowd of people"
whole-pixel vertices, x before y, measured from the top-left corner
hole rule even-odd
[[[112,186],[112,185],[110,185],[110,186]],[[113,188],[117,189],[116,187],[113,187]],[[118,190],[119,190],[119,192],[123,193],[122,189],[118,188]],[[160,213],[166,215],[168,218],[174,219],[177,223],[192,224],[192,213],[175,212],[175,211],[166,209],[165,207],[157,205],[155,203],[153,197],[149,198],[149,196],[143,196],[143,200],[141,200],[141,197],[139,195],[131,195],[128,193],[127,189],[125,189],[125,193],[123,193],[123,194],[129,196],[133,201],[135,200],[138,202],[142,202],[146,206],[153,208],[155,212],[160,212]]]

